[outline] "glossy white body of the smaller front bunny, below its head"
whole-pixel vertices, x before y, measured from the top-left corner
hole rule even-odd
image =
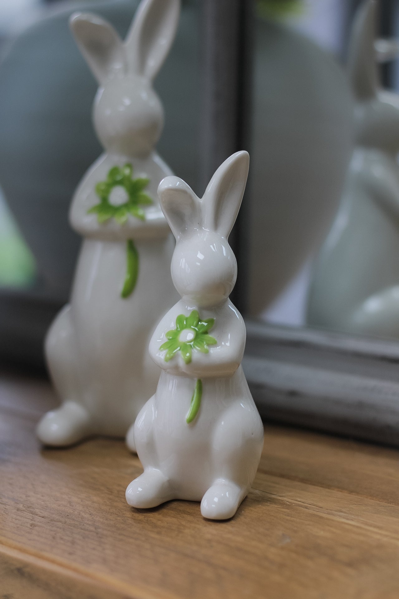
[[[188,314],[192,309],[178,302],[157,328],[156,343],[151,346],[159,347],[159,341],[165,338],[176,316]],[[245,346],[242,317],[231,302],[216,311],[201,314],[203,317],[216,315],[212,333],[218,339],[218,346],[209,348],[211,372],[203,364],[192,369],[202,380],[202,402],[196,422],[190,425],[186,422],[196,379],[183,363],[176,365],[172,372],[163,371],[156,394],[136,419],[133,436],[138,455],[144,459],[146,474],[143,477],[150,480],[148,484],[151,485],[153,471],[156,471],[155,477],[157,471],[162,471],[168,480],[169,498],[191,501],[201,501],[212,487],[210,495],[215,496],[220,492],[215,487],[226,492],[227,486],[232,486],[232,502],[226,506],[226,517],[230,518],[255,477],[263,446],[263,426],[240,365]],[[230,343],[239,348],[235,356],[226,347],[229,335]],[[218,367],[229,376],[215,376],[215,353],[219,353]],[[165,365],[159,352],[151,352],[151,358],[162,367]],[[187,376],[188,373],[191,376]],[[129,443],[129,436],[127,439]],[[141,479],[141,487],[142,482]],[[158,496],[151,499],[159,501]],[[140,504],[150,507],[147,497],[141,497],[139,502],[136,507]],[[214,506],[214,497],[205,499],[204,504],[203,515],[223,516],[222,507]]]

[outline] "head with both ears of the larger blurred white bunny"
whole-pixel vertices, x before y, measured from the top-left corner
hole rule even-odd
[[[142,0],[123,42],[95,14],[72,15],[78,47],[99,83],[93,120],[109,153],[145,158],[159,140],[163,108],[152,82],[175,37],[180,0]]]

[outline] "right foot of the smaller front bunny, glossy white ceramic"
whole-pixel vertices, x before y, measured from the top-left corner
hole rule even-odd
[[[201,501],[201,513],[211,520],[233,518],[246,491],[230,480],[216,480]]]

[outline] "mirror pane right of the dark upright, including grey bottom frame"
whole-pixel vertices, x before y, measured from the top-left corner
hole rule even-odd
[[[398,444],[395,27],[383,0],[258,2],[245,371],[265,418]]]

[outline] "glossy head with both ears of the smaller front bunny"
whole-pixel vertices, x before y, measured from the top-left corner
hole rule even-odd
[[[188,305],[209,308],[230,295],[237,262],[227,239],[248,176],[248,152],[237,152],[218,168],[202,198],[178,177],[165,177],[158,195],[176,237],[170,271]]]

